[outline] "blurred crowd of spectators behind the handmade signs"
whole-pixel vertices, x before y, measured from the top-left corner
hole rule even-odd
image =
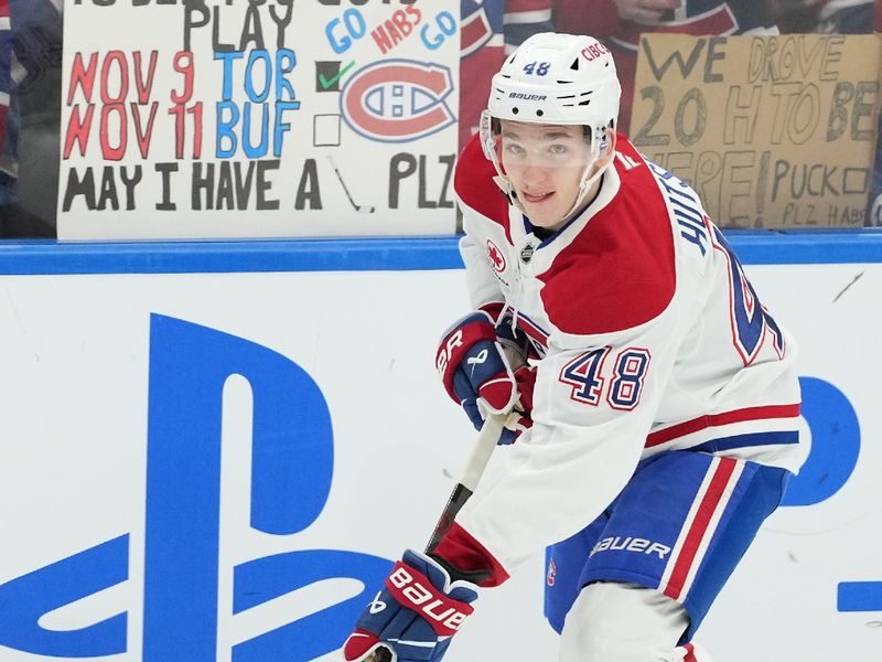
[[[4,238],[55,236],[63,2],[0,0],[0,236]],[[536,32],[592,34],[609,45],[623,83],[620,129],[627,132],[643,33],[860,34],[882,26],[882,0],[462,0],[461,12],[461,145],[476,130],[486,102],[483,92],[475,90],[487,89],[506,53]],[[475,30],[478,24],[482,29]],[[466,30],[467,25],[473,29]],[[870,199],[876,193],[882,193],[882,143]],[[867,218],[874,224],[870,213]]]

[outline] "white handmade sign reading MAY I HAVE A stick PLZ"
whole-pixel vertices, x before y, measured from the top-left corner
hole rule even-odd
[[[67,0],[58,237],[455,229],[459,3]]]

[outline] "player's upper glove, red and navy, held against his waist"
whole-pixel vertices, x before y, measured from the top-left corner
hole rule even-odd
[[[494,414],[510,410],[517,399],[517,382],[494,322],[488,310],[465,316],[444,333],[435,355],[448,395],[462,405],[476,429],[484,420],[478,399]]]

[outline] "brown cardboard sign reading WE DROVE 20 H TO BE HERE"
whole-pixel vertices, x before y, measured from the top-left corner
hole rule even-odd
[[[647,34],[632,140],[725,227],[864,224],[878,35]]]

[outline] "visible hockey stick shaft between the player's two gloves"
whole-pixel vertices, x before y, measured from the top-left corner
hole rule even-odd
[[[514,412],[510,414],[491,414],[487,416],[484,425],[481,426],[477,439],[475,439],[472,455],[469,456],[469,460],[465,462],[465,467],[462,470],[460,482],[453,488],[453,492],[450,494],[450,499],[448,499],[448,504],[441,512],[438,524],[434,525],[434,531],[429,537],[429,544],[426,546],[427,552],[434,548],[444,533],[453,525],[456,513],[460,512],[463,504],[469,501],[472,492],[475,491],[477,481],[481,479],[481,474],[484,473],[484,469],[493,455],[493,449],[496,448],[496,441],[499,440],[499,435],[502,435],[505,424],[509,423],[509,418],[517,420],[519,416],[519,414]],[[391,660],[392,652],[384,647],[374,651],[372,655],[365,659],[365,662],[391,662]]]

